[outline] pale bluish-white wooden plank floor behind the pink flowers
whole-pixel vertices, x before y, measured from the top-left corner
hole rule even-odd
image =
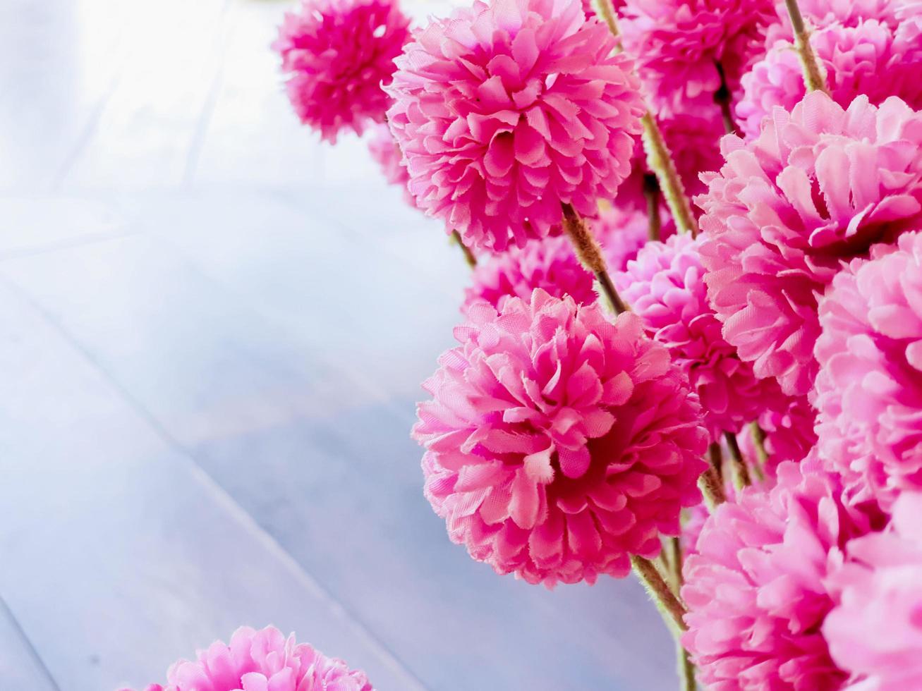
[[[422,498],[467,269],[294,122],[286,6],[0,2],[0,689],[268,623],[379,691],[674,687],[634,582],[497,577]]]

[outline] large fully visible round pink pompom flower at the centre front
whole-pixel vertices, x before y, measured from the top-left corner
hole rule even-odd
[[[448,533],[530,583],[622,577],[680,532],[707,434],[666,348],[624,313],[536,290],[480,302],[425,382],[413,436]]]

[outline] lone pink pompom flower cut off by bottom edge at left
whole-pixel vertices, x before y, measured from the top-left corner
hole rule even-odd
[[[373,691],[365,674],[328,658],[275,627],[237,629],[230,644],[217,641],[195,662],[180,660],[167,685],[147,691]]]

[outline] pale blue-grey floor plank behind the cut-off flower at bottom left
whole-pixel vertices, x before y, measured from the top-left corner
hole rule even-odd
[[[383,688],[420,688],[79,347],[0,289],[0,593],[57,679],[162,679],[276,623]]]

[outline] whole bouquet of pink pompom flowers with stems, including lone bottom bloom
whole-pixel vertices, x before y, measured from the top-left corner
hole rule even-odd
[[[412,432],[453,542],[633,572],[684,689],[922,689],[922,2],[306,0],[275,48],[474,269]],[[169,683],[371,688],[274,629]]]

